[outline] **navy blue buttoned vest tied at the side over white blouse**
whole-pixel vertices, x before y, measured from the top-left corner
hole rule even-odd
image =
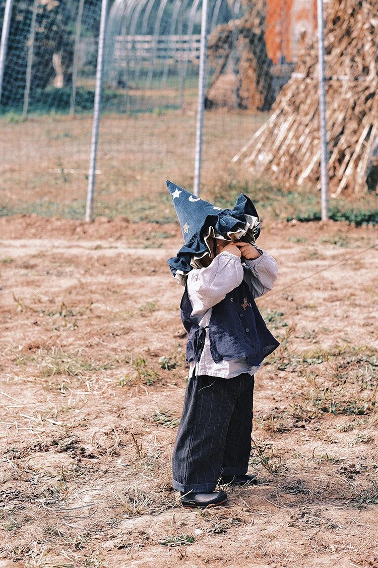
[[[186,361],[199,361],[206,330],[190,317],[192,304],[188,291],[181,299],[181,319],[189,333]],[[267,329],[247,284],[243,281],[226,298],[213,306],[209,323],[210,352],[216,363],[245,358],[251,367],[277,349],[279,343]]]

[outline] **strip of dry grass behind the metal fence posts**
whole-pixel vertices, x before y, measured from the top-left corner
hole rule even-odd
[[[267,119],[266,114],[206,112],[201,195],[226,207],[241,191],[256,202],[264,219],[320,218],[320,198],[312,188],[282,191],[250,178],[231,159]],[[101,117],[94,214],[154,223],[176,222],[165,180],[193,187],[194,111],[162,115],[105,114]],[[89,115],[32,116],[28,122],[0,118],[1,215],[37,214],[83,219],[86,204],[92,118]],[[335,220],[378,223],[376,195],[330,200]],[[33,230],[33,229],[31,229]],[[144,247],[156,248],[170,232],[156,231]],[[147,237],[147,235],[146,235]],[[329,238],[329,237],[328,237]],[[331,236],[331,238],[333,238]],[[336,237],[338,238],[338,237]],[[338,240],[339,246],[348,246]],[[311,254],[311,251],[309,252]]]

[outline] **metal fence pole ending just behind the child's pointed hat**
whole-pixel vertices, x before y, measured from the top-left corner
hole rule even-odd
[[[205,107],[205,82],[206,82],[206,51],[207,51],[207,0],[202,0],[201,47],[199,51],[199,73],[198,73],[196,157],[194,160],[194,183],[193,183],[193,193],[194,195],[197,195],[197,197],[199,195],[199,185],[201,183],[203,110]]]

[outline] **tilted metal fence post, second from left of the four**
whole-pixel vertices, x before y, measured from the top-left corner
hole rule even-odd
[[[95,187],[95,170],[96,170],[96,157],[97,157],[97,141],[99,138],[101,90],[103,86],[104,43],[105,43],[105,29],[107,26],[107,16],[108,16],[108,0],[102,0],[99,49],[97,52],[95,106],[94,106],[93,123],[92,123],[91,160],[90,160],[90,168],[88,174],[87,207],[86,207],[86,217],[85,217],[87,223],[90,223],[92,220],[93,194]]]

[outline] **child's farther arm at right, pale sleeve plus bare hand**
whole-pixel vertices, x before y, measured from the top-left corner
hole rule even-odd
[[[253,298],[259,298],[273,288],[277,280],[277,262],[270,254],[249,243],[237,243],[245,259],[244,281]]]

